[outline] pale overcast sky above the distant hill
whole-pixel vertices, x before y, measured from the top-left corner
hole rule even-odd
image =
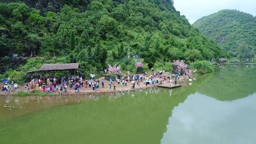
[[[174,7],[191,24],[221,9],[237,9],[256,16],[256,0],[174,0]]]

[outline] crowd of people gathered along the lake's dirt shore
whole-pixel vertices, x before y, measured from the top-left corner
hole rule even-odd
[[[196,70],[193,70],[195,73]],[[141,83],[144,83],[146,86],[157,86],[159,84],[166,84],[167,78],[169,86],[177,85],[177,81],[179,80],[181,74],[170,74],[168,77],[164,74],[165,71],[160,70],[159,72],[154,72],[153,75],[148,76],[146,72],[141,75],[130,75],[130,72],[127,72],[128,75],[122,75],[119,73],[114,77],[110,77],[108,80],[108,85],[110,90],[117,90],[119,88],[125,88],[128,86],[128,83],[131,82],[131,89],[140,88]],[[184,75],[190,77],[192,75],[191,70],[187,70],[184,72]],[[58,85],[59,84],[59,85]],[[43,77],[38,76],[37,78],[32,79],[29,83],[25,84],[25,91],[28,90],[36,90],[36,91],[44,91],[44,92],[63,92],[67,93],[68,90],[74,90],[75,93],[79,93],[81,91],[93,90],[99,91],[101,88],[105,88],[105,80],[102,79],[96,80],[95,75],[90,75],[89,79],[85,79],[85,75],[81,74],[80,76],[70,76],[70,77]],[[5,83],[2,87],[6,93],[8,91],[18,90],[17,83]]]

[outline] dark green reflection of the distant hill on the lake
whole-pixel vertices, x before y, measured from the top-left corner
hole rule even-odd
[[[197,87],[200,93],[221,101],[245,98],[256,92],[256,68],[228,65],[219,72],[210,73]]]

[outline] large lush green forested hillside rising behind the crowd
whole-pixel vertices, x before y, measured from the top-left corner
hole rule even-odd
[[[172,0],[2,1],[1,62],[13,53],[55,53],[64,58],[58,63],[79,62],[103,70],[106,63],[127,68],[131,63],[124,59],[127,54],[138,55],[149,67],[156,62],[225,56],[213,40],[180,16]]]

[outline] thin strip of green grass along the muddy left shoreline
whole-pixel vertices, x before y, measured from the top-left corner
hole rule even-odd
[[[16,93],[10,94],[12,97],[27,97],[27,96],[40,96],[40,97],[45,97],[45,96],[57,96],[56,93],[45,93],[45,92],[38,92],[38,91],[31,91],[31,92],[24,92],[22,90],[18,90]]]

